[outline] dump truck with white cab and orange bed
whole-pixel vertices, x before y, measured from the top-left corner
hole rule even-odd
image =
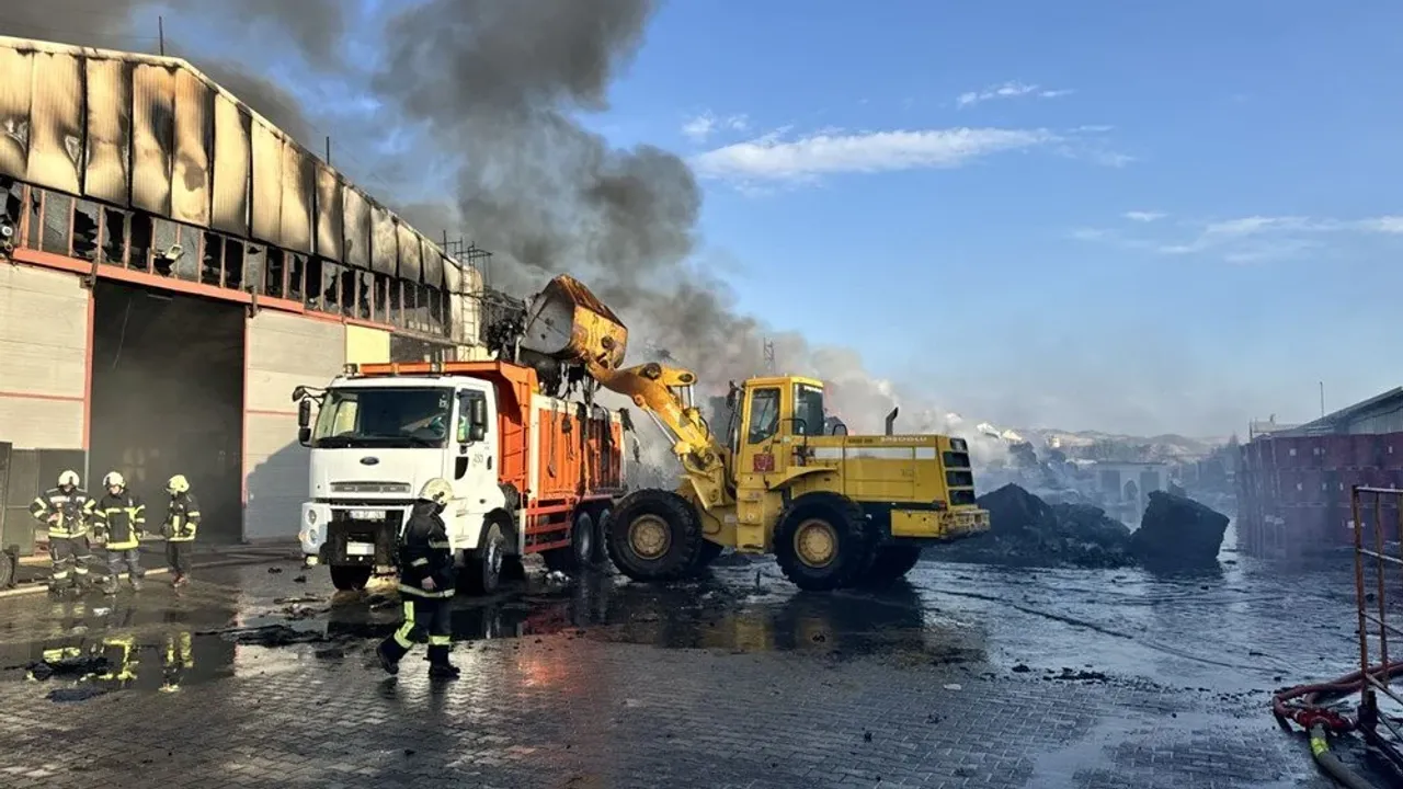
[[[624,491],[624,411],[543,394],[535,369],[499,361],[347,365],[293,397],[311,449],[299,538],[337,588],[394,569],[434,477],[453,484],[443,521],[460,587],[491,592],[528,553],[563,571],[603,560],[600,524]]]

